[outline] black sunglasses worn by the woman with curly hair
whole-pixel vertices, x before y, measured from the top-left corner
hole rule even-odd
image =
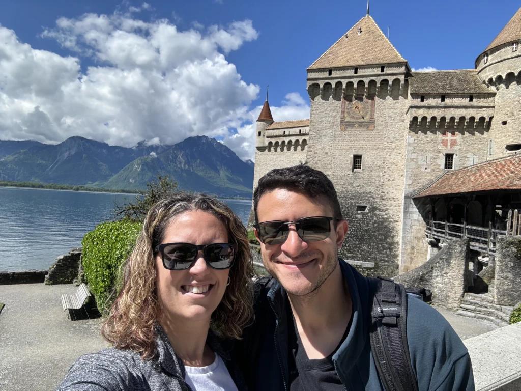
[[[192,267],[197,260],[197,253],[201,250],[208,266],[216,270],[224,270],[233,265],[237,245],[212,243],[195,246],[192,243],[163,243],[155,248],[155,252],[161,252],[163,266],[168,270],[185,270]]]

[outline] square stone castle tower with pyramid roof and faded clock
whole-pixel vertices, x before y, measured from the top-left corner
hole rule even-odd
[[[367,14],[307,68],[307,163],[349,221],[339,254],[381,275],[400,257],[410,67]]]

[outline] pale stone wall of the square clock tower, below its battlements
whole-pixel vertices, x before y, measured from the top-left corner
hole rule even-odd
[[[346,115],[341,129],[342,104],[352,102],[333,95],[314,97],[307,161],[331,179],[348,221],[339,255],[374,262],[375,267],[364,274],[390,277],[398,273],[400,258],[408,100],[382,90],[373,99],[372,130],[367,121]],[[362,155],[362,170],[353,170],[355,154]]]

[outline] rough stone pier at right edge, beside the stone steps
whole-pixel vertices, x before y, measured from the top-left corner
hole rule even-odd
[[[515,306],[521,300],[521,236],[498,236],[494,304]]]

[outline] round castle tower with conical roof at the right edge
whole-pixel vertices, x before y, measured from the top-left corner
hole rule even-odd
[[[488,159],[521,153],[521,8],[476,59],[478,76],[496,92]]]

